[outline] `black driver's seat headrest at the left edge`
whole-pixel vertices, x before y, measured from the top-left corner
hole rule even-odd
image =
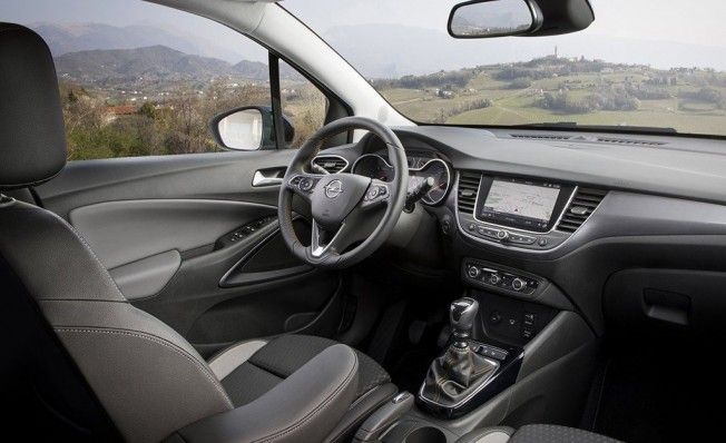
[[[66,165],[66,134],[48,45],[0,22],[0,189],[37,185]]]

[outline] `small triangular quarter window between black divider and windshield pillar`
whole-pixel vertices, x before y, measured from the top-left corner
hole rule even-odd
[[[300,148],[316,130],[325,125],[327,98],[315,85],[284,61],[279,61],[279,88],[283,115],[295,128],[290,148]]]

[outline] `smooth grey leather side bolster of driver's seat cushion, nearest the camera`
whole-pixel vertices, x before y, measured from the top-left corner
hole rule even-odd
[[[254,402],[202,420],[178,434],[190,443],[320,442],[352,404],[356,386],[357,356],[337,344]]]

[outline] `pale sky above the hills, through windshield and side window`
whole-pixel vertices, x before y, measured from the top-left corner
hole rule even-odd
[[[588,58],[642,62],[661,68],[697,65],[726,69],[726,57],[722,57],[726,55],[724,0],[591,0],[596,21],[582,32],[557,38],[474,41],[454,40],[445,35],[449,10],[457,2],[284,0],[282,4],[324,37],[336,27],[371,23],[435,30],[441,33],[441,39],[447,39],[447,48],[451,51],[480,51],[485,60],[475,60],[477,63],[516,61],[519,55],[512,53],[509,48],[517,48],[521,51],[521,57],[527,59],[532,55],[550,53],[555,45],[558,45],[561,55],[571,57],[585,55]],[[24,24],[154,24],[196,33],[199,39],[214,41],[225,48],[239,48],[237,53],[241,58],[264,60],[263,51],[253,51],[249,45],[243,45],[245,39],[222,24],[139,0],[0,0],[0,20]],[[507,45],[500,45],[502,41]]]

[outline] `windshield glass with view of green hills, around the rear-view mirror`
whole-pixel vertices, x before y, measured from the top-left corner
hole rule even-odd
[[[590,0],[580,32],[467,40],[447,32],[457,3],[283,6],[414,121],[726,135],[723,0]]]

